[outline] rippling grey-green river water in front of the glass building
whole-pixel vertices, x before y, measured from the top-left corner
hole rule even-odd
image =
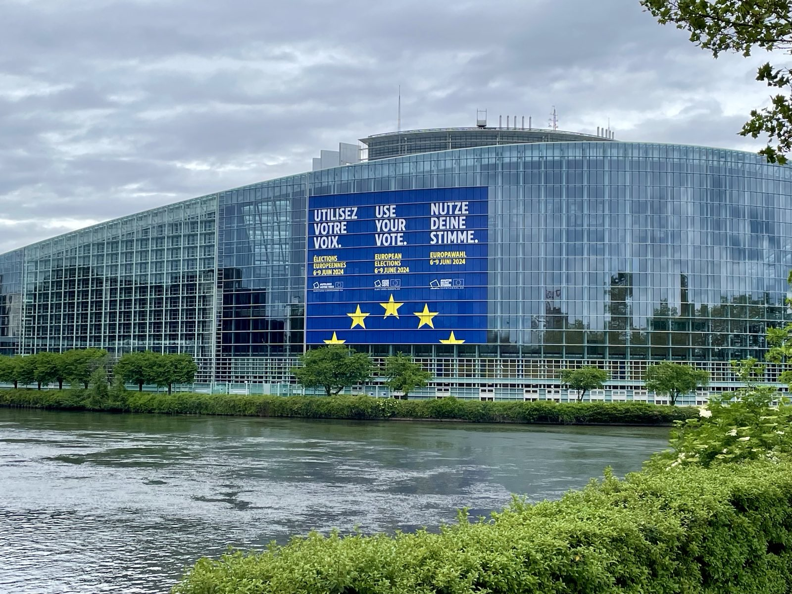
[[[168,592],[226,546],[436,527],[638,470],[665,428],[0,409],[0,592]]]

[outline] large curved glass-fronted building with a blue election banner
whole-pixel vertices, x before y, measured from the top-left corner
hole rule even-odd
[[[592,398],[642,400],[645,367],[661,360],[710,371],[708,390],[732,389],[729,361],[761,359],[767,327],[790,317],[790,172],[736,150],[599,139],[407,154],[264,181],[0,255],[0,352],[189,352],[199,389],[273,394],[299,391],[296,357],[333,342],[376,360],[411,353],[433,376],[423,396],[565,400],[562,368],[592,364],[611,376]],[[456,223],[437,216],[465,196],[476,209]],[[390,234],[396,247],[372,256],[363,219],[380,230],[383,212],[401,217],[388,225],[402,226],[406,247]],[[341,233],[338,253],[352,250],[341,260],[327,255],[320,216]],[[460,220],[475,221],[476,239],[430,231]],[[468,240],[476,245],[451,246]],[[436,256],[449,257],[447,275],[432,272]],[[380,267],[364,274],[367,257]],[[398,278],[383,288],[379,274],[380,292],[369,294],[372,271]],[[401,317],[388,314],[389,296],[406,305]],[[424,305],[438,312],[436,334],[395,331],[413,322],[428,331]],[[353,387],[387,394],[376,382]]]

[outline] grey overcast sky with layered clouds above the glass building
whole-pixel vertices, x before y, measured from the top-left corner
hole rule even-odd
[[[299,173],[322,148],[503,114],[758,150],[767,56],[714,60],[638,0],[2,0],[0,253]]]

